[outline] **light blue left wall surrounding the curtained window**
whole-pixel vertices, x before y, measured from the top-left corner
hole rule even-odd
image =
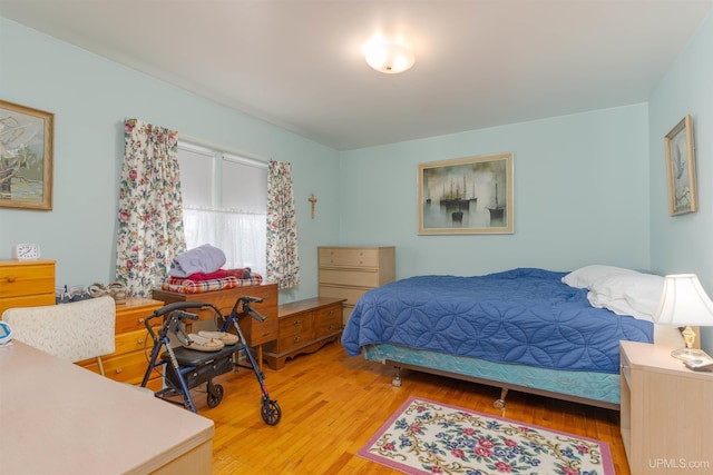
[[[125,118],[293,164],[303,281],[316,295],[316,246],[338,235],[335,150],[0,18],[0,98],[55,113],[53,210],[0,209],[0,258],[38,243],[58,285],[114,280]],[[318,214],[310,219],[311,192]]]

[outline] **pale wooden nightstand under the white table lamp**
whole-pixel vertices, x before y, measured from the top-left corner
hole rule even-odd
[[[621,427],[632,474],[713,473],[713,373],[693,372],[674,348],[621,342]]]

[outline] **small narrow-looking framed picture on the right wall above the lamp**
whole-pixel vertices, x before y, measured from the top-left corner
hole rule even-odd
[[[666,176],[668,180],[668,214],[671,216],[695,212],[697,190],[695,175],[695,147],[693,119],[684,117],[664,138],[666,149]]]

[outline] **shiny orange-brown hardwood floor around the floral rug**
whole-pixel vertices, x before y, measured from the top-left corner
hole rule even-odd
[[[214,474],[397,474],[355,454],[410,395],[502,415],[492,406],[498,388],[406,370],[397,388],[391,369],[348,356],[339,343],[280,372],[264,370],[282,408],[275,426],[260,415],[261,390],[251,369],[214,379],[224,387],[215,408],[192,390],[198,413],[215,422]],[[618,412],[510,392],[505,417],[604,441],[616,474],[629,475]]]

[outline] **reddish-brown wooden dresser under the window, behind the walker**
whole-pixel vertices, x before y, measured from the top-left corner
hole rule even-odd
[[[228,316],[235,301],[242,296],[260,297],[262,303],[251,304],[261,315],[267,317],[265,321],[243,315],[240,318],[240,326],[247,346],[257,347],[257,362],[262,369],[262,345],[277,338],[277,284],[265,284],[260,286],[236,287],[226,290],[206,291],[203,294],[178,294],[175,291],[155,289],[153,297],[163,300],[166,304],[174,301],[199,301],[204,304],[213,304],[221,310],[221,314]],[[198,315],[201,320],[212,320],[216,317],[212,308],[204,310],[191,310],[192,314]]]

